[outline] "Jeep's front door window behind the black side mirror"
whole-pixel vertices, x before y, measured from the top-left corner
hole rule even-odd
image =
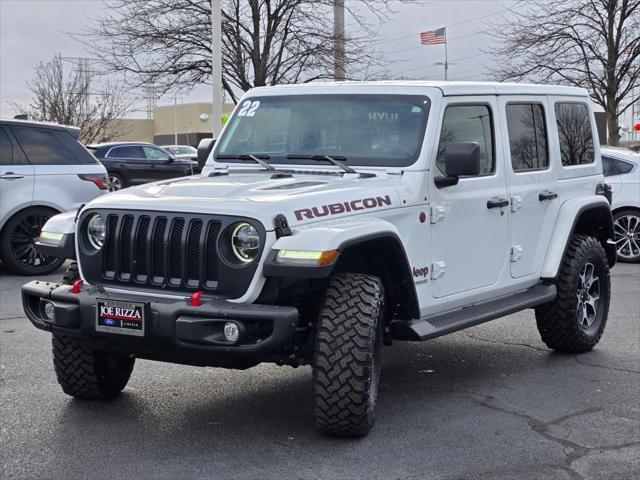
[[[452,105],[445,110],[436,160],[436,167],[443,175],[445,147],[456,142],[480,145],[480,175],[495,172],[493,118],[487,105]]]

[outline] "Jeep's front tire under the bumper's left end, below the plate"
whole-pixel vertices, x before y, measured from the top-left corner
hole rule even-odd
[[[95,352],[78,339],[53,334],[53,365],[67,395],[91,400],[115,398],[129,381],[135,358]]]

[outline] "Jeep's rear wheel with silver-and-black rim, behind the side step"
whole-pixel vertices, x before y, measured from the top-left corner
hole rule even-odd
[[[556,299],[536,308],[542,341],[559,352],[593,349],[607,323],[611,293],[607,255],[596,238],[571,240],[556,288]]]

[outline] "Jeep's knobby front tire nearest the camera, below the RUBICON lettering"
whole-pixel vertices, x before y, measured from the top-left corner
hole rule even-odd
[[[327,288],[313,359],[316,427],[366,435],[375,420],[382,360],[384,291],[378,277],[339,273]]]

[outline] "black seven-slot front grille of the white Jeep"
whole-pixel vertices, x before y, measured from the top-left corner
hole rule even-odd
[[[244,218],[115,210],[99,213],[105,216],[107,226],[103,249],[97,254],[80,249],[82,271],[91,283],[235,296],[241,295],[253,278],[257,262],[239,268],[225,263],[219,255],[221,233],[238,221],[246,221]],[[252,223],[264,243],[264,229]],[[220,275],[224,276],[222,282]]]

